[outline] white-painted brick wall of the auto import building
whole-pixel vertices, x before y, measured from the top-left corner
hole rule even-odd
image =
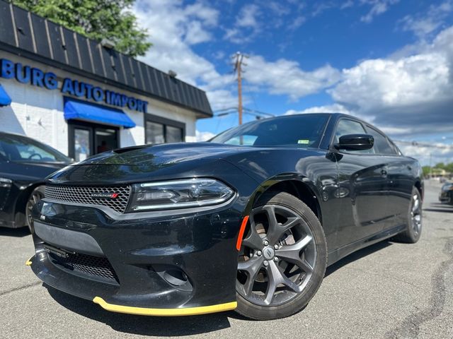
[[[195,141],[195,112],[184,109],[167,102],[159,101],[151,97],[137,95],[120,88],[115,88],[104,83],[98,83],[89,78],[76,76],[73,73],[55,69],[35,61],[30,61],[15,54],[0,52],[0,59],[5,58],[13,62],[21,62],[24,66],[33,66],[44,72],[53,72],[59,79],[71,78],[105,90],[113,90],[124,93],[130,97],[148,102],[148,114],[164,117],[185,124],[185,141]],[[61,80],[60,80],[61,81]],[[42,143],[47,143],[64,154],[68,154],[68,126],[64,120],[63,95],[60,92],[61,83],[57,90],[47,90],[30,84],[19,83],[15,78],[0,78],[0,83],[11,97],[12,103],[8,107],[0,107],[0,131],[20,133],[30,138],[35,138]],[[87,100],[87,102],[93,102]],[[99,102],[105,105],[104,102]],[[117,107],[116,107],[117,108]],[[120,129],[120,146],[142,145],[145,142],[144,114],[131,111],[126,107],[124,112],[137,124],[132,129]]]

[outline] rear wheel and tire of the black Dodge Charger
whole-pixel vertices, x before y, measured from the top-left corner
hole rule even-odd
[[[416,206],[417,204],[418,206]],[[412,190],[411,203],[409,203],[408,218],[406,223],[406,230],[400,234],[397,234],[394,237],[394,240],[396,242],[403,242],[406,244],[415,244],[415,242],[418,242],[420,239],[423,224],[422,198],[416,187]]]

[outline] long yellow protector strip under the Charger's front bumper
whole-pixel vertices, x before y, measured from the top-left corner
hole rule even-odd
[[[202,307],[188,307],[185,309],[148,309],[146,307],[132,307],[109,304],[101,297],[93,299],[95,304],[101,305],[103,309],[112,312],[125,313],[125,314],[138,314],[141,316],[195,316],[197,314],[208,314],[214,312],[229,311],[236,309],[237,302],[227,302],[226,304],[218,304],[212,306]]]

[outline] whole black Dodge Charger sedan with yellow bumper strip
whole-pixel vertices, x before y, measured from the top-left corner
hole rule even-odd
[[[27,264],[109,311],[277,319],[303,309],[340,258],[417,242],[422,198],[418,162],[366,122],[276,117],[53,174]]]

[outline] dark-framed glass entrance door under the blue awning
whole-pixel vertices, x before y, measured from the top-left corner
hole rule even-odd
[[[118,148],[118,129],[110,126],[69,122],[69,157],[76,162]]]

